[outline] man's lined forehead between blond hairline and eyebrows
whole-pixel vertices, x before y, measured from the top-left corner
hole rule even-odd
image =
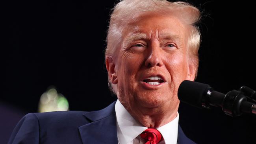
[[[147,38],[168,35],[186,38],[188,28],[189,25],[174,15],[147,13],[128,23],[122,34],[124,37],[139,33]]]

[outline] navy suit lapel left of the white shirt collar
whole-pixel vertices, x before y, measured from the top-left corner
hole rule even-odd
[[[83,144],[117,144],[115,102],[105,109],[84,116],[91,123],[79,127]]]

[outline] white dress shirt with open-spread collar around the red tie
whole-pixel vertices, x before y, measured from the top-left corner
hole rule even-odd
[[[124,106],[117,100],[115,103],[117,116],[117,138],[119,144],[145,144],[145,140],[139,136],[148,127],[135,120]],[[158,144],[177,144],[179,114],[171,122],[158,127],[164,140]]]

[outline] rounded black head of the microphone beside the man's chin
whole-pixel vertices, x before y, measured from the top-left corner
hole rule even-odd
[[[178,89],[178,98],[181,102],[188,103],[196,107],[202,107],[202,99],[210,90],[210,85],[185,80]]]

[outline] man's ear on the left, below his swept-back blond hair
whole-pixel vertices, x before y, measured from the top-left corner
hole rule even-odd
[[[106,57],[106,68],[108,70],[108,78],[111,83],[117,84],[117,72],[115,70],[115,63],[111,57]]]

